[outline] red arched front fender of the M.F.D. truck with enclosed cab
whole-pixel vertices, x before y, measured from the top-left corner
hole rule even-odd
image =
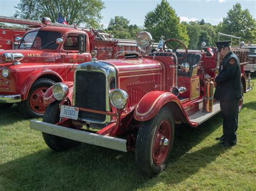
[[[64,81],[62,76],[60,76],[57,72],[50,70],[50,69],[38,69],[35,72],[31,73],[26,80],[23,82],[21,86],[21,96],[22,100],[26,100],[29,95],[29,90],[32,86],[32,84],[41,76],[46,75],[46,74],[51,74],[57,76],[60,81]]]

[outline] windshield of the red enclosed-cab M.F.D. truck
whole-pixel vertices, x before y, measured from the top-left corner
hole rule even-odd
[[[60,38],[61,34],[59,32],[51,31],[35,31],[27,33],[19,48],[42,48],[42,49],[56,49],[58,45],[56,44],[56,39]]]

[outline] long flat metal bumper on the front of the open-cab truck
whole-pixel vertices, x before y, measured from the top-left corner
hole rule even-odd
[[[64,137],[71,140],[77,140],[78,142],[88,143],[91,145],[97,145],[106,148],[111,148],[113,150],[127,152],[125,139],[98,135],[96,133],[65,128],[63,126],[35,120],[30,121],[30,129],[42,131],[51,135]]]

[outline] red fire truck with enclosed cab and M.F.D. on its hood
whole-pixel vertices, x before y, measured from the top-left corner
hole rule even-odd
[[[134,40],[53,24],[49,18],[42,21],[41,27],[28,31],[23,39],[16,38],[18,49],[0,51],[0,109],[18,103],[24,116],[42,117],[46,107],[43,93],[56,82],[72,81],[76,66],[90,61],[92,50],[105,60],[114,59],[120,51],[138,49]],[[20,22],[38,26],[33,20]]]

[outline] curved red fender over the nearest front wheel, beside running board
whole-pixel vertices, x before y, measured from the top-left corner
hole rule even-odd
[[[147,93],[142,100],[139,101],[133,116],[137,121],[149,121],[155,117],[160,109],[167,103],[173,103],[176,106],[175,109],[179,110],[177,111],[177,115],[173,112],[174,121],[180,121],[176,120],[176,118],[179,118],[181,121],[187,122],[193,127],[198,126],[197,123],[190,122],[179,99],[172,93],[166,91],[151,91]]]

